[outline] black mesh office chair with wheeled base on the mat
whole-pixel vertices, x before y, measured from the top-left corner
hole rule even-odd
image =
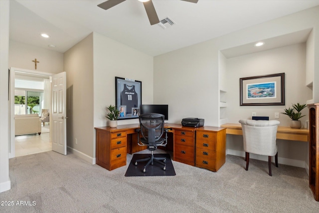
[[[164,128],[164,115],[157,113],[146,113],[139,116],[140,119],[140,129],[138,132],[138,145],[148,146],[148,150],[152,151],[152,155],[146,159],[136,160],[135,165],[138,162],[148,161],[145,165],[143,172],[146,172],[146,167],[148,165],[153,165],[154,161],[163,165],[163,170],[166,170],[166,158],[155,158],[153,151],[158,148],[158,146],[166,146],[167,144],[167,129]],[[162,138],[165,132],[165,137]],[[140,138],[140,133],[142,137]]]

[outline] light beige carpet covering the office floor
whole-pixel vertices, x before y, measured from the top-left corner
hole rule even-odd
[[[161,151],[160,151],[161,152]],[[145,153],[142,151],[140,153]],[[132,155],[128,154],[129,164]],[[172,161],[176,176],[125,177],[53,151],[9,160],[11,190],[2,213],[318,213],[305,169],[227,155],[216,173]],[[32,202],[35,205],[32,206]]]

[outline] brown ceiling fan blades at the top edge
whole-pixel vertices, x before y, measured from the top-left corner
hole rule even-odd
[[[103,3],[98,4],[98,6],[101,7],[102,9],[109,9],[115,5],[118,5],[119,3],[122,3],[123,1],[125,1],[125,0],[107,0]],[[160,23],[160,19],[158,17],[158,14],[156,13],[156,10],[155,10],[155,7],[153,5],[152,0],[139,0],[139,1],[143,2],[151,25]],[[183,0],[183,1],[197,3],[198,0]]]

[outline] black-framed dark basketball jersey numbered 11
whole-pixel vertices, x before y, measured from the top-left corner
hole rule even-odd
[[[120,111],[118,120],[139,118],[139,116],[133,114],[134,109],[140,112],[142,81],[115,77],[115,103]],[[121,108],[123,112],[121,112]]]

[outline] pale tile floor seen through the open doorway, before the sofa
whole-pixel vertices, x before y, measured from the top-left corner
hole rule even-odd
[[[52,150],[50,133],[15,136],[15,157]]]

